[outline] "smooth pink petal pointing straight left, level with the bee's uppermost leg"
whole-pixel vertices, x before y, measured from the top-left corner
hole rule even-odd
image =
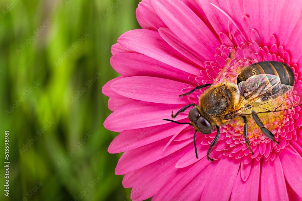
[[[111,84],[113,91],[118,94],[152,103],[185,104],[187,97],[179,97],[182,89],[188,85],[164,78],[135,76],[122,78]]]

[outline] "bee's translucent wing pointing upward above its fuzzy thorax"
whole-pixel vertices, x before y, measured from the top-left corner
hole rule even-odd
[[[229,58],[226,59],[226,65],[218,73],[212,85],[216,85],[220,82],[236,83],[237,75],[240,73],[241,69],[244,68],[244,66],[232,61],[232,59],[234,59],[235,57],[237,57],[237,55],[234,51],[232,51],[229,54]]]

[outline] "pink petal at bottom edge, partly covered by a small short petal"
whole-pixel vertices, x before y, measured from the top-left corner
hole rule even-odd
[[[260,182],[260,161],[253,160],[251,165],[251,174],[246,181],[243,181],[241,171],[239,171],[236,181],[233,186],[231,201],[245,200],[254,201],[258,200],[259,182]]]

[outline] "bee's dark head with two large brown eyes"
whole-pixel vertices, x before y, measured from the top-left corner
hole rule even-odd
[[[213,132],[213,126],[210,124],[210,122],[208,122],[208,120],[201,116],[196,107],[193,107],[189,111],[188,118],[193,127],[195,129],[198,128],[202,134],[210,134]]]

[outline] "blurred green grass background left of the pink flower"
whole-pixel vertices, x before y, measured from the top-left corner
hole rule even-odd
[[[0,2],[1,153],[5,130],[10,148],[9,197],[3,193],[4,157],[0,160],[1,200],[130,200],[123,176],[114,174],[120,155],[107,152],[117,133],[103,126],[110,111],[101,88],[118,76],[110,66],[111,45],[140,28],[139,1],[121,0],[105,19],[116,2]],[[83,33],[87,37],[80,40]],[[93,82],[96,72],[102,75]],[[91,137],[85,139],[85,133]],[[37,182],[43,185],[32,194]]]

